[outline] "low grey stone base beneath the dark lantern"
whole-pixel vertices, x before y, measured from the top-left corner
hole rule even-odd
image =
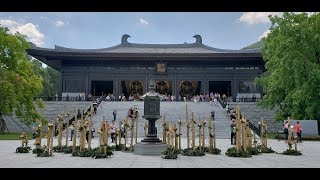
[[[134,145],[133,154],[143,156],[160,156],[167,149],[168,145],[161,143],[140,142]]]

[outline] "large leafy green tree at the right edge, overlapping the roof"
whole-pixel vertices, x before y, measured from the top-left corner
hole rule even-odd
[[[320,119],[320,13],[269,16],[270,34],[261,52],[266,72],[256,81],[259,105],[278,107],[276,120]]]

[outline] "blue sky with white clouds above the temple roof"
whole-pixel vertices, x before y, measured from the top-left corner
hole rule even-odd
[[[266,36],[268,15],[280,12],[0,12],[0,26],[19,31],[39,47],[54,45],[95,49],[121,43],[202,43],[215,48],[241,49]]]

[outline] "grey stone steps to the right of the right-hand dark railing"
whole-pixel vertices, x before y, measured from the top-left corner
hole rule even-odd
[[[268,123],[269,132],[277,132],[283,128],[282,123],[274,121],[276,110],[262,109],[256,102],[230,102],[229,105],[230,108],[236,108],[239,105],[240,111],[255,124],[263,118]]]

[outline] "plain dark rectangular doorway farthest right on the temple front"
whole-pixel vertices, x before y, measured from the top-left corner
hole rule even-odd
[[[209,81],[209,93],[231,96],[231,81]]]

